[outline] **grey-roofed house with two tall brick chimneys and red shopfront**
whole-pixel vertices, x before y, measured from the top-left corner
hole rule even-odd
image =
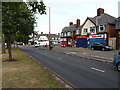
[[[62,45],[65,45],[67,47],[75,46],[76,31],[79,32],[80,31],[79,28],[80,28],[80,19],[76,20],[76,24],[70,22],[68,27],[64,27],[61,32]]]

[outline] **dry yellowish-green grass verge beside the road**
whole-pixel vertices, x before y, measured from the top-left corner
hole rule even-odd
[[[12,55],[16,61],[5,61],[8,53],[2,56],[2,88],[62,88],[22,50],[13,48]]]

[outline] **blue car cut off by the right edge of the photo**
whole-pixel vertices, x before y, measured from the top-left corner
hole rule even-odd
[[[117,67],[118,71],[120,71],[120,50],[114,55],[113,65]]]

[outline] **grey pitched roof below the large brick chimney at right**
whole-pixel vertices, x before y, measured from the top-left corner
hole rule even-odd
[[[91,21],[93,21],[96,25],[100,24],[115,24],[116,18],[109,14],[102,14],[101,16],[95,16],[93,18],[89,17]]]

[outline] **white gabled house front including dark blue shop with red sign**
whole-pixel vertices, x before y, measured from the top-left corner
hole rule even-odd
[[[88,48],[89,34],[96,34],[96,24],[91,18],[87,17],[83,25],[80,27],[80,34],[76,35],[76,47]]]

